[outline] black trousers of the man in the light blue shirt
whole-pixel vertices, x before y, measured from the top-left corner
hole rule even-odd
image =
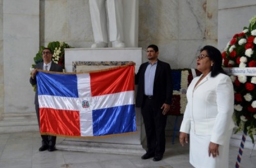
[[[163,110],[154,106],[154,98],[144,98],[141,108],[145,132],[147,138],[148,153],[163,155],[165,152],[165,128],[167,116],[163,115]]]

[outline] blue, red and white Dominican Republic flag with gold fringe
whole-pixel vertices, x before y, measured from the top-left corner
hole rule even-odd
[[[41,134],[89,137],[136,132],[134,65],[87,73],[39,70]]]

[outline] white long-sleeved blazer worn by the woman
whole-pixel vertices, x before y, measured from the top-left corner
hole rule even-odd
[[[194,78],[188,87],[188,103],[180,132],[210,135],[211,142],[222,145],[227,139],[225,135],[235,126],[232,120],[233,84],[230,77],[223,73],[215,77],[209,73],[195,87],[201,76]]]

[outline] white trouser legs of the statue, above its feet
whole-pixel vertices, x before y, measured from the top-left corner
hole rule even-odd
[[[108,43],[105,0],[89,0],[95,42]],[[109,40],[124,41],[122,0],[107,0]]]

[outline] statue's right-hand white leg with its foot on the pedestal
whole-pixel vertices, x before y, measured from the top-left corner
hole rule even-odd
[[[123,35],[123,6],[122,0],[107,0],[109,39],[112,47],[125,47]]]

